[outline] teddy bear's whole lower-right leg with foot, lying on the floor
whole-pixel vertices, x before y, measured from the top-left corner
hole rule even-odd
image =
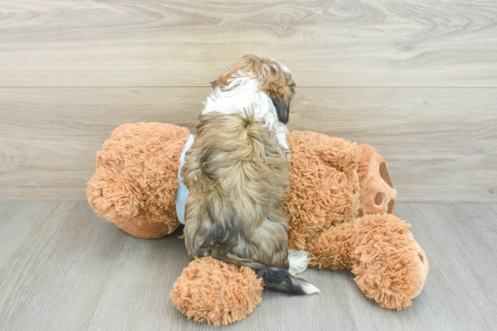
[[[308,242],[309,266],[351,269],[368,298],[400,310],[419,295],[429,269],[409,227],[393,215],[376,214],[330,228]]]

